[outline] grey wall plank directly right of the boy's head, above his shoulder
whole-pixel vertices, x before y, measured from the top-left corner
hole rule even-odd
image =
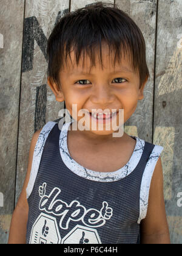
[[[157,0],[116,0],[115,3],[121,10],[129,14],[138,27],[140,27],[146,41],[146,60],[150,73],[149,80],[144,88],[144,99],[138,101],[135,113],[124,125],[124,131],[129,135],[138,136],[151,143]],[[133,133],[132,127],[135,127],[135,133]]]

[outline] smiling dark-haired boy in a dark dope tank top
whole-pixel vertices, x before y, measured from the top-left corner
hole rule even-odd
[[[62,129],[50,121],[33,135],[8,243],[170,243],[163,147],[127,133],[113,137],[149,77],[140,29],[99,2],[61,18],[47,54],[48,84],[76,121]],[[83,109],[86,129],[79,126]],[[115,126],[106,129],[110,121]]]

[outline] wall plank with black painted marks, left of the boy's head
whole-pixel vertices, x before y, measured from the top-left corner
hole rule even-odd
[[[66,12],[69,12],[69,0],[26,0],[16,202],[27,172],[33,133],[48,121],[58,119],[59,110],[64,108],[64,102],[56,102],[47,85],[46,49],[53,26]]]

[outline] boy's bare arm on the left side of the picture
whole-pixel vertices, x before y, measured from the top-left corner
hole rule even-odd
[[[32,168],[33,152],[40,132],[41,129],[35,132],[32,137],[29,151],[27,175],[25,177],[24,186],[15,207],[15,211],[13,212],[12,221],[10,224],[8,244],[25,244],[26,242],[27,220],[29,215],[29,205],[27,202],[26,188],[29,183],[30,171]]]

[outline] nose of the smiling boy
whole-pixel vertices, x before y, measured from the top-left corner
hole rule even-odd
[[[114,101],[114,95],[111,88],[106,85],[96,85],[90,100],[93,104],[99,106],[108,106],[109,103]]]

